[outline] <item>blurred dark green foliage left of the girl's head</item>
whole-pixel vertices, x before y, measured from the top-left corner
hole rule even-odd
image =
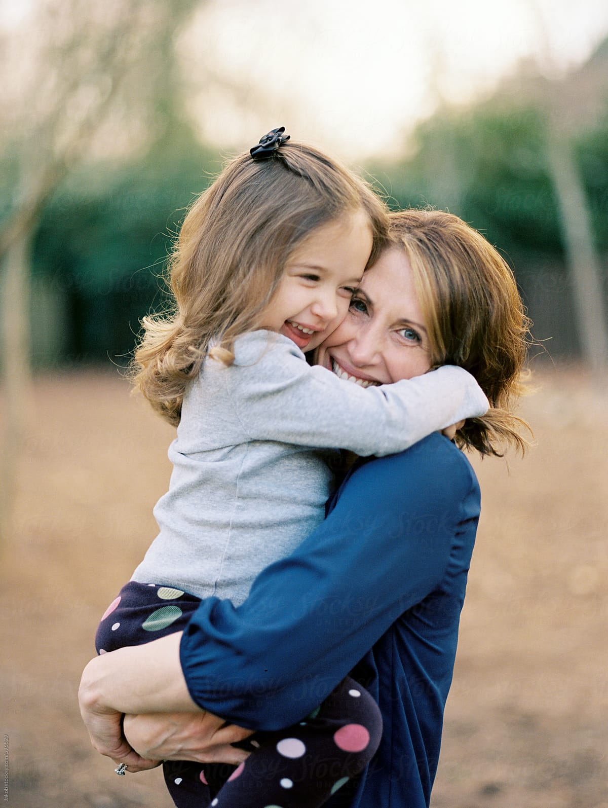
[[[86,166],[53,194],[33,251],[38,366],[128,360],[140,318],[168,305],[166,259],[214,158],[173,130],[142,158]],[[52,339],[42,323],[54,324]]]

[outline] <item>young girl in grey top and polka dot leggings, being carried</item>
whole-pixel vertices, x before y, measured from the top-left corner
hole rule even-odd
[[[321,523],[335,447],[399,452],[487,410],[462,368],[375,386],[308,366],[303,351],[342,321],[383,245],[386,213],[363,181],[283,131],[195,202],[171,264],[174,313],[144,321],[136,383],[178,424],[174,470],[154,509],[160,532],[99,625],[100,654],[182,630],[209,595],[241,604]],[[347,679],[275,729],[254,736],[219,792],[214,768],[164,764],[175,804],[320,806],[370,760],[381,720]]]

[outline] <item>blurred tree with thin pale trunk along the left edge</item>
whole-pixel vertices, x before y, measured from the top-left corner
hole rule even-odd
[[[128,152],[150,133],[152,140],[166,136],[178,105],[178,93],[170,97],[174,38],[197,5],[197,0],[40,0],[20,36],[2,36],[2,162],[16,168],[0,221],[2,535],[10,522],[14,464],[28,409],[32,234],[53,191],[90,152]]]

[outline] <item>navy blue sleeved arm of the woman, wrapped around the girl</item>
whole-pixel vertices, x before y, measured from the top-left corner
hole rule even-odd
[[[442,436],[357,469],[244,604],[210,598],[195,612],[180,650],[193,700],[259,730],[299,721],[434,590],[479,508],[468,461]]]

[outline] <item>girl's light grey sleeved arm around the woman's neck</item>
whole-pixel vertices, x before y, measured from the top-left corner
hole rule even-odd
[[[248,440],[383,456],[488,410],[475,379],[454,365],[363,389],[310,367],[290,339],[266,331],[237,341],[236,356],[236,363],[220,372],[226,401]]]

